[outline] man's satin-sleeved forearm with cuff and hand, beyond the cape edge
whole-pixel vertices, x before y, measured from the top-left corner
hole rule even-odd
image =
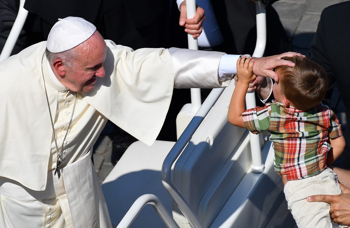
[[[179,48],[170,48],[169,52],[174,65],[175,88],[214,88],[227,86],[232,79],[232,75],[237,73],[236,62],[240,57],[240,55],[226,55],[223,52]],[[273,69],[283,65],[293,67],[295,65],[294,63],[283,60],[281,57],[294,55],[302,56],[295,52],[286,52],[269,57],[253,57],[253,73],[256,76],[269,77],[278,81],[278,75]],[[203,77],[208,74],[216,75],[217,78]]]

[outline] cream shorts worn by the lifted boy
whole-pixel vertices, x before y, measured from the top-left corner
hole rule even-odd
[[[318,194],[340,194],[342,191],[337,182],[337,174],[329,168],[324,169],[316,176],[288,181],[284,187],[284,193],[288,202],[288,209],[292,212],[299,228],[332,228],[329,204],[308,202],[306,198]],[[339,225],[339,227],[347,226]]]

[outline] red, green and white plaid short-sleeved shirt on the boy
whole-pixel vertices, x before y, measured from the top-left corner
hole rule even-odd
[[[341,136],[336,115],[322,103],[305,111],[273,100],[242,114],[249,131],[268,130],[275,150],[275,171],[286,180],[314,176],[326,167],[328,137]]]

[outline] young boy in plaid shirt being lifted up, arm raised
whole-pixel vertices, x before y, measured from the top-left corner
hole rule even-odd
[[[254,134],[266,130],[271,133],[274,168],[285,185],[288,209],[297,226],[331,228],[329,204],[306,200],[310,195],[341,193],[337,175],[327,168],[345,147],[337,117],[321,103],[328,79],[322,67],[310,59],[299,56],[283,59],[295,66],[275,69],[279,75],[279,81],[272,87],[275,100],[265,107],[246,111],[245,94],[256,77],[252,73],[254,60],[245,56],[238,59],[238,81],[228,121]]]

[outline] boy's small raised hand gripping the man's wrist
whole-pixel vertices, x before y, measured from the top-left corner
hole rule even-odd
[[[237,77],[240,83],[249,84],[256,76],[253,74],[254,60],[252,57],[242,56],[237,60]]]

